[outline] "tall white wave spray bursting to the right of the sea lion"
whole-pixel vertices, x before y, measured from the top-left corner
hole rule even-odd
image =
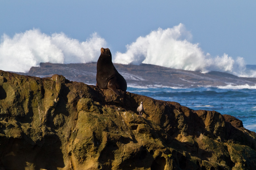
[[[117,52],[114,62],[137,65],[147,63],[203,73],[222,71],[239,77],[256,77],[255,70],[246,70],[242,57],[233,59],[227,54],[216,57],[204,54],[199,44],[189,42],[191,38],[192,34],[183,24],[165,30],[158,28],[127,45],[125,53]]]

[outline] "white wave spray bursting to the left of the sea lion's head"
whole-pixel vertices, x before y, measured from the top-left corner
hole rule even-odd
[[[106,41],[93,33],[85,42],[68,38],[64,33],[47,35],[39,29],[3,35],[0,44],[0,69],[28,72],[41,62],[87,63],[97,61]]]

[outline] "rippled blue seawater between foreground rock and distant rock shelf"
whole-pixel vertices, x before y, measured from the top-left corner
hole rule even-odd
[[[198,88],[133,88],[127,91],[157,100],[175,101],[193,110],[215,110],[235,116],[246,129],[256,132],[256,86]]]

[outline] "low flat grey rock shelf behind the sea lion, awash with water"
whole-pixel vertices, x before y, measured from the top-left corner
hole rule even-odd
[[[28,73],[19,74],[41,78],[58,74],[72,81],[96,85],[96,65],[97,62],[80,64],[40,63],[40,67],[32,67]],[[184,88],[256,84],[256,78],[241,78],[218,71],[204,74],[197,71],[177,70],[152,64],[124,65],[114,63],[114,65],[116,70],[125,78],[128,86]]]

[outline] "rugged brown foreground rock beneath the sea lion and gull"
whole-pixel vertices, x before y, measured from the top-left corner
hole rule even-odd
[[[253,169],[256,133],[215,111],[0,71],[0,153],[2,169]]]

